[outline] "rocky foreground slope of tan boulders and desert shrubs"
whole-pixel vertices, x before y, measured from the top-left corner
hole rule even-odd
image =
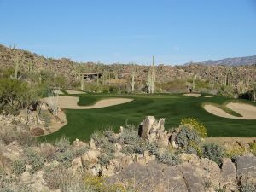
[[[90,143],[76,140],[71,144],[65,138],[56,143],[33,143],[26,125],[18,119],[4,126],[4,119],[0,120],[0,191],[256,189],[256,150],[250,149],[255,141],[250,145],[226,143],[229,149],[224,156],[218,145],[202,143],[195,127],[183,125],[165,131],[165,119],[149,116],[139,131],[120,127],[119,133],[92,135]]]

